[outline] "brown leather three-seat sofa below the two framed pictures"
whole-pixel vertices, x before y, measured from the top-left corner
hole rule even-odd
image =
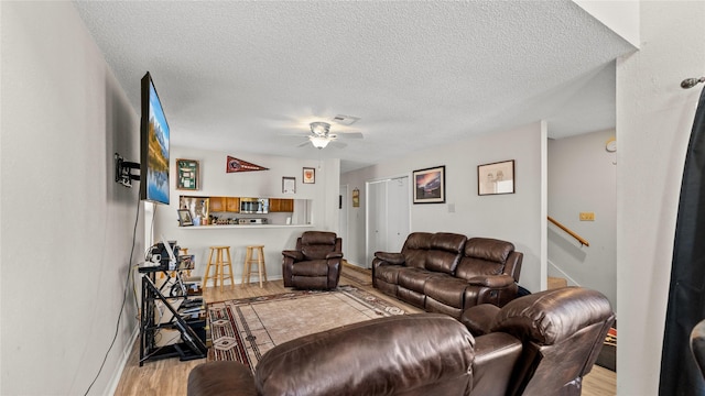
[[[469,307],[501,307],[516,298],[522,260],[510,242],[414,232],[401,253],[375,253],[372,285],[426,311],[459,319]]]

